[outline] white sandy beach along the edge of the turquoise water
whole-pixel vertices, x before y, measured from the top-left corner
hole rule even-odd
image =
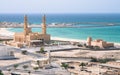
[[[0,28],[0,36],[9,36],[9,37],[13,37],[15,32],[11,32],[8,30],[8,28]],[[51,40],[60,40],[60,41],[71,41],[71,42],[81,42],[81,43],[85,43],[86,40],[78,40],[78,39],[70,39],[70,38],[61,38],[61,37],[51,37]],[[116,42],[112,42],[115,45],[119,45],[120,43],[116,43]]]

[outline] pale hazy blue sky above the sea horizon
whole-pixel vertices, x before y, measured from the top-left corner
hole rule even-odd
[[[0,0],[0,13],[120,13],[120,0]]]

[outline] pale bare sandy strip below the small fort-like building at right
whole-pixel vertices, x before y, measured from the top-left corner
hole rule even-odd
[[[70,50],[51,52],[51,56],[63,57],[95,57],[95,58],[120,58],[120,50],[105,50],[105,51],[92,51],[92,50]]]

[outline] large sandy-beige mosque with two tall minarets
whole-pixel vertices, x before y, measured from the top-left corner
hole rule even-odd
[[[15,46],[15,47],[23,47],[23,46],[40,46],[44,43],[50,42],[50,35],[47,34],[46,29],[46,16],[44,15],[42,18],[42,32],[32,32],[31,28],[28,27],[27,16],[24,16],[24,31],[16,32],[14,34],[13,41],[6,41],[5,44]]]

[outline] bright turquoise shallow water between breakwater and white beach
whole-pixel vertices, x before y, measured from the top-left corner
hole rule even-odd
[[[22,32],[22,28],[11,28],[13,32]],[[41,32],[41,28],[32,28],[33,32]],[[48,28],[48,34],[52,37],[86,40],[91,36],[93,39],[104,39],[109,42],[120,43],[120,26],[98,28]]]

